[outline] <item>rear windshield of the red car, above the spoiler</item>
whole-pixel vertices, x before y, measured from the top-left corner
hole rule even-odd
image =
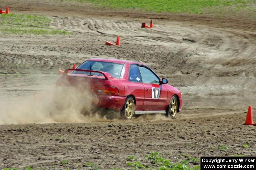
[[[85,61],[76,69],[83,69],[83,70],[90,70],[90,62]],[[111,74],[112,77],[120,78],[121,71],[123,68],[123,64],[119,63],[111,63],[111,62],[104,62],[104,61],[92,61],[91,63],[91,70],[95,71],[102,71]],[[89,74],[89,72],[83,71],[73,71],[73,74]],[[103,76],[101,73],[91,73],[92,75]]]

